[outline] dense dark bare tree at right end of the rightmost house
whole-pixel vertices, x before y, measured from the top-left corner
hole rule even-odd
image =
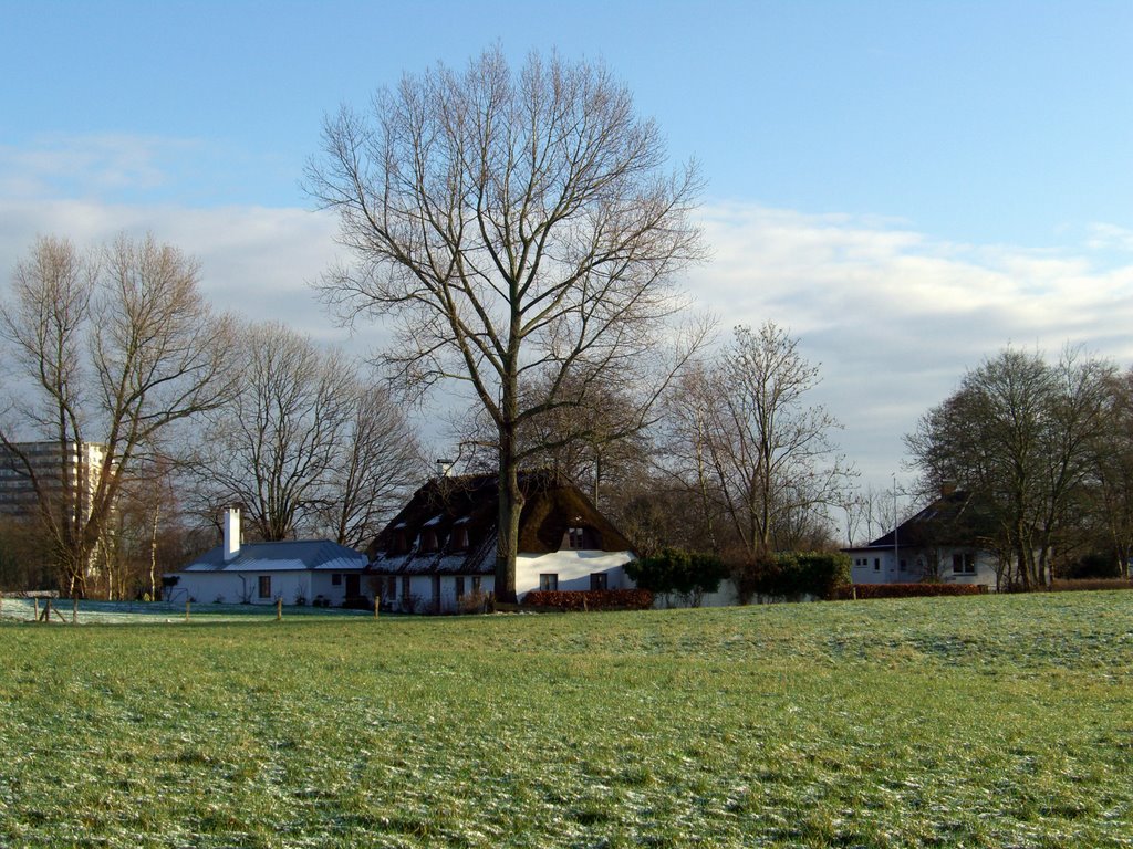
[[[1097,448],[1115,444],[1114,383],[1113,365],[1074,349],[1051,365],[1007,348],[905,437],[926,490],[949,481],[981,500],[996,523],[986,544],[1022,589],[1049,581],[1056,543],[1094,486]]]

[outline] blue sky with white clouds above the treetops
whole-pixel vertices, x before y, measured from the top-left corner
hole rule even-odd
[[[1127,2],[0,0],[0,267],[151,229],[223,306],[339,332],[299,181],[325,112],[500,43],[600,59],[707,178],[729,321],[792,329],[841,441],[901,436],[1008,342],[1133,362]],[[355,341],[360,345],[363,341]]]

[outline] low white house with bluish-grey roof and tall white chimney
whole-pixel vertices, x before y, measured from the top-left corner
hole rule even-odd
[[[240,511],[223,522],[223,544],[164,576],[165,598],[198,603],[363,604],[374,591],[363,581],[366,555],[330,540],[240,542]]]

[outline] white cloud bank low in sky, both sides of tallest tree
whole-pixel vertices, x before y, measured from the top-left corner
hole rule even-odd
[[[725,331],[770,319],[821,362],[816,400],[845,424],[840,441],[869,480],[900,472],[902,436],[964,370],[1012,343],[1056,355],[1064,343],[1133,361],[1133,265],[1099,269],[1089,246],[1032,251],[935,241],[901,222],[806,215],[755,205],[702,212],[714,259],[688,278]],[[151,231],[202,261],[220,307],[288,323],[356,352],[309,288],[337,258],[333,216],[299,208],[0,200],[0,273],[36,234],[92,246]]]

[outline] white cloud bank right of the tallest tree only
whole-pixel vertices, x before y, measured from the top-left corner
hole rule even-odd
[[[1133,361],[1133,265],[1100,269],[1089,245],[957,245],[755,205],[712,207],[704,221],[714,260],[690,289],[727,325],[773,320],[800,337],[823,363],[817,400],[845,424],[843,449],[880,484],[918,418],[1007,344]]]

